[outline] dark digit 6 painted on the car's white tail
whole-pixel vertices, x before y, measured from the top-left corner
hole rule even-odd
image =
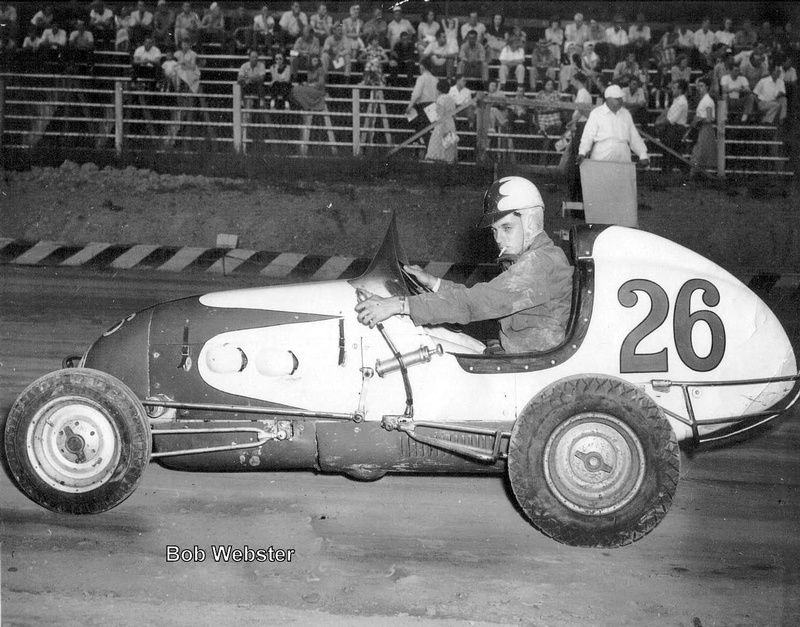
[[[684,283],[675,301],[675,348],[678,349],[678,357],[689,368],[697,372],[708,372],[716,368],[725,355],[725,325],[713,311],[703,309],[691,313],[692,294],[696,290],[703,290],[703,303],[707,307],[719,305],[719,290],[713,284],[703,279],[692,279]],[[705,357],[700,357],[692,345],[692,329],[700,321],[705,322],[711,331],[711,350]]]

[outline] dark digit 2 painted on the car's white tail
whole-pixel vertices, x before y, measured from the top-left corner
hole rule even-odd
[[[628,334],[622,343],[619,354],[620,372],[667,372],[667,349],[657,353],[637,353],[644,338],[664,324],[669,313],[669,297],[657,283],[646,279],[633,279],[623,284],[617,292],[617,300],[623,307],[634,307],[639,302],[636,291],[645,292],[650,297],[650,313]]]

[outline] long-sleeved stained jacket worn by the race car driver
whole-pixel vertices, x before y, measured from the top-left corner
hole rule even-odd
[[[572,302],[572,266],[542,232],[499,276],[466,287],[442,280],[436,292],[408,299],[416,325],[499,319],[506,352],[545,351],[564,341]]]

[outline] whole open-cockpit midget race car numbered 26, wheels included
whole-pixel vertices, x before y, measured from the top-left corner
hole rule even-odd
[[[17,486],[99,513],[148,462],[186,471],[508,473],[531,523],[617,547],[667,514],[679,442],[752,429],[798,398],[789,338],[734,276],[656,235],[571,232],[566,340],[494,354],[458,328],[356,319],[423,288],[392,218],[355,279],[205,294],[131,314],[32,383],[5,429]]]

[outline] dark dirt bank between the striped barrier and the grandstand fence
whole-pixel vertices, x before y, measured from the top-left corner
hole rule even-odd
[[[369,257],[395,212],[414,260],[488,261],[495,253],[489,234],[474,228],[483,180],[268,184],[69,161],[2,174],[0,237],[211,247],[218,233],[232,233],[242,248]],[[569,228],[560,181],[532,178],[548,232]],[[725,268],[800,270],[800,215],[785,184],[686,183],[645,172],[639,206],[641,228]]]

